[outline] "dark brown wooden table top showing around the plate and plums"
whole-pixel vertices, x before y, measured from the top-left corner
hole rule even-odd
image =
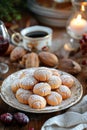
[[[63,36],[63,33],[65,32],[65,29],[59,29],[59,28],[53,28],[54,32],[53,32],[53,39],[57,40],[58,38],[60,39]],[[62,39],[62,38],[61,38]],[[61,43],[60,43],[61,44]],[[7,60],[7,61],[6,61]],[[4,58],[5,62],[8,62],[8,57]],[[75,77],[78,78],[78,80],[81,82],[81,84],[83,85],[83,90],[84,90],[84,95],[87,94],[87,80],[83,80],[83,73],[84,73],[84,66],[82,68],[82,71],[78,74],[75,75]],[[9,63],[9,72],[5,75],[2,75],[3,78],[6,78],[8,75],[10,75],[13,72],[16,72],[19,70],[19,66],[16,63]],[[2,84],[3,81],[0,81],[0,85]],[[4,113],[4,112],[17,112],[19,110],[14,109],[12,107],[10,107],[9,105],[7,105],[6,103],[4,103],[2,101],[2,99],[0,98],[0,114]],[[2,124],[0,122],[0,130],[40,130],[41,126],[43,125],[43,123],[53,117],[56,116],[58,114],[61,114],[64,111],[60,111],[60,112],[54,112],[54,113],[46,113],[46,114],[36,114],[36,113],[27,113],[24,112],[25,114],[27,114],[30,118],[30,122],[29,124],[27,124],[24,127],[20,127],[18,126],[16,123],[13,123],[11,126],[5,126],[4,124]],[[32,128],[32,129],[31,129]]]

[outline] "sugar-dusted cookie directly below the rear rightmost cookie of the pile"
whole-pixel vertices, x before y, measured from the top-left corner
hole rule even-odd
[[[71,90],[65,85],[61,85],[56,91],[61,94],[63,100],[71,96]]]

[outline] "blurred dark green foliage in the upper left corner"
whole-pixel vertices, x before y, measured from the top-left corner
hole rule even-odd
[[[0,0],[0,19],[4,21],[20,20],[26,3],[26,0]]]

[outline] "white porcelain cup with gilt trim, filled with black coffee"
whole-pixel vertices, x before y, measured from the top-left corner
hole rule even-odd
[[[21,30],[19,33],[12,35],[12,43],[23,46],[25,49],[34,48],[42,50],[44,47],[51,48],[52,45],[52,29],[46,26],[31,26]],[[19,37],[19,42],[15,40]]]

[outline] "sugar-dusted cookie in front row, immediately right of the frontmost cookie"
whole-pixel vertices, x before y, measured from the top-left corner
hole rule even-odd
[[[51,94],[46,96],[46,101],[51,106],[57,106],[62,102],[62,96],[57,92],[52,91]]]

